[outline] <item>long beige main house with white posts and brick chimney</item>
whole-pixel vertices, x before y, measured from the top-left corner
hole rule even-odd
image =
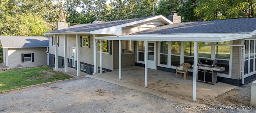
[[[256,18],[180,23],[180,16],[172,12],[168,19],[150,16],[74,25],[44,33],[51,37],[50,65],[64,67],[65,71],[67,66],[75,67],[77,76],[80,70],[95,74],[119,68],[120,79],[122,68],[143,66],[147,87],[148,68],[175,72],[177,65],[188,62],[194,67],[189,69],[193,101],[195,67],[201,58],[217,60],[218,66],[225,67],[225,71],[217,73],[218,82],[240,85],[255,78]]]

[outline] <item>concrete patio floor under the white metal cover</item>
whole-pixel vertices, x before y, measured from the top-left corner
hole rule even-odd
[[[64,68],[58,68],[58,70],[64,72]],[[76,76],[76,70],[74,68],[68,68],[68,73]],[[180,74],[178,74],[176,78],[176,73],[161,70],[148,69],[148,86],[145,88],[144,67],[139,66],[122,68],[122,79],[119,79],[119,70],[93,75],[88,75],[81,72],[81,75],[157,95],[174,101],[191,102],[193,94],[192,76],[189,76],[187,80],[184,80],[184,77],[181,77]],[[196,97],[198,100],[214,99],[214,97],[228,92],[236,87],[237,86],[222,82],[218,82],[214,85],[204,82],[197,82]]]

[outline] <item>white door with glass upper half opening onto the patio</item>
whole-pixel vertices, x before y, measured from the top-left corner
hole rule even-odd
[[[156,42],[148,41],[148,68],[156,69]]]

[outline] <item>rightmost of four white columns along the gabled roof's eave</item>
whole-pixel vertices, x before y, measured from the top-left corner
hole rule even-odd
[[[93,35],[95,38],[96,35]],[[98,73],[97,59],[98,59],[98,41],[97,39],[93,39],[93,74]]]

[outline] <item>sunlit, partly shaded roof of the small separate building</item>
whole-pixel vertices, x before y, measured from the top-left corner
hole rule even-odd
[[[0,36],[3,48],[49,47],[48,37]]]

